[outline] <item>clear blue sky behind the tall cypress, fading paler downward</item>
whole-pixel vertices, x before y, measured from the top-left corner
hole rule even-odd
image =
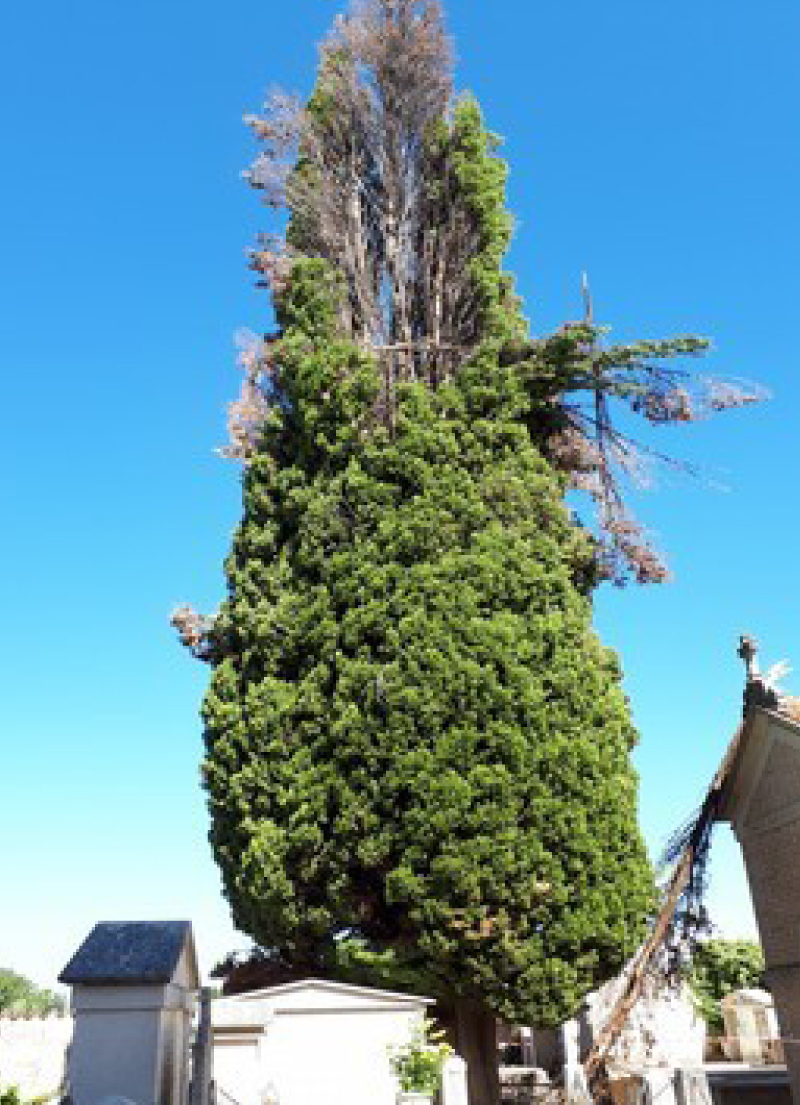
[[[53,979],[97,919],[190,917],[241,944],[206,843],[207,672],[171,607],[212,610],[240,511],[214,456],[232,335],[269,326],[244,249],[241,115],[307,92],[334,0],[32,0],[0,42],[4,539],[0,965]],[[656,444],[709,482],[642,497],[675,572],[597,600],[642,743],[653,851],[730,736],[741,630],[800,663],[794,0],[450,0],[457,83],[506,136],[509,259],[535,332],[588,270],[621,338],[698,332],[775,400]],[[796,684],[797,685],[797,684]],[[751,926],[719,842],[716,918]]]

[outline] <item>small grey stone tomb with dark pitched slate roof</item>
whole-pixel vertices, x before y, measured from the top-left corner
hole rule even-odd
[[[72,987],[75,1017],[73,1105],[186,1105],[198,987],[188,922],[96,925],[60,981]]]

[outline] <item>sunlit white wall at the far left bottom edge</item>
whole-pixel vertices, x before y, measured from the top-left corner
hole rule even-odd
[[[0,1087],[19,1086],[22,1097],[57,1097],[64,1078],[71,1017],[0,1017]]]

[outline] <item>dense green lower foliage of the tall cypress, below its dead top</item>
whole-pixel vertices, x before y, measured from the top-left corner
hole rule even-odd
[[[575,586],[591,548],[517,373],[407,385],[393,436],[362,434],[364,355],[284,343],[203,707],[235,922],[308,969],[348,932],[439,993],[555,1022],[651,903],[634,734]]]

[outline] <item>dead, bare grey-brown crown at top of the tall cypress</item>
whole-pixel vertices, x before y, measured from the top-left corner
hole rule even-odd
[[[276,93],[264,116],[248,118],[264,143],[248,179],[269,203],[291,210],[290,255],[323,257],[343,276],[343,329],[371,349],[472,336],[454,334],[452,320],[470,330],[463,301],[474,234],[452,181],[450,204],[425,187],[425,138],[452,97],[440,4],[365,0],[323,43],[306,107]],[[253,267],[280,291],[281,249],[262,244]],[[392,359],[411,370],[412,358]]]

